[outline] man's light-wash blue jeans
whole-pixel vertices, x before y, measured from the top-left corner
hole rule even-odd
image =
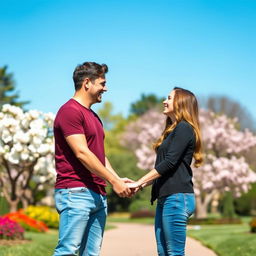
[[[60,215],[59,241],[54,256],[98,256],[106,223],[106,196],[85,187],[56,189]]]

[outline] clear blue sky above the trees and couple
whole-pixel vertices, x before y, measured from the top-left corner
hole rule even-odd
[[[96,61],[109,66],[103,101],[116,113],[180,86],[229,96],[256,119],[255,13],[255,0],[2,0],[0,66],[29,109],[56,113],[76,65]]]

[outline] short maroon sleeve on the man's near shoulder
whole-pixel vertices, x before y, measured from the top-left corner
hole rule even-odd
[[[82,114],[75,109],[62,109],[59,114],[59,127],[64,137],[73,134],[84,134]]]

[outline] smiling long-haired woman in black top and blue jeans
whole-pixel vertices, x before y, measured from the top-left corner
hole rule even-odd
[[[202,164],[198,104],[194,94],[175,87],[163,102],[167,116],[161,137],[154,144],[155,168],[135,184],[135,192],[153,183],[151,203],[157,201],[155,235],[158,255],[184,255],[186,225],[195,210],[190,164]]]

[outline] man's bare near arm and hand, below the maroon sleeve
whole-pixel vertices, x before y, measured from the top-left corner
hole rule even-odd
[[[88,148],[86,137],[84,134],[74,134],[66,137],[66,141],[77,159],[92,173],[108,181],[113,190],[120,197],[130,196],[130,189],[118,177],[118,175],[109,171]]]

